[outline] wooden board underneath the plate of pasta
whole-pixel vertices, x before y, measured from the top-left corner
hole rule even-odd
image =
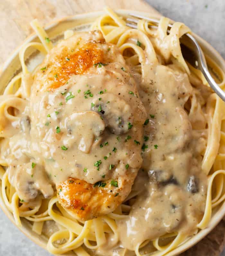
[[[158,13],[142,0],[0,0],[0,65],[13,50],[33,31],[31,20],[37,18],[41,24],[68,15],[102,10],[129,9]],[[218,256],[225,245],[225,219],[202,241],[180,256]]]

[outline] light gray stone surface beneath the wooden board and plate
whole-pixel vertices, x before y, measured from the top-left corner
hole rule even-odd
[[[163,15],[173,20],[184,22],[195,33],[211,43],[214,48],[221,53],[223,58],[225,58],[224,0],[147,1]],[[5,255],[49,256],[51,254],[26,238],[0,210],[0,256]],[[225,251],[221,256],[225,256]]]

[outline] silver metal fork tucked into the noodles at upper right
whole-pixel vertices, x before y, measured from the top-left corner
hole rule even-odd
[[[142,15],[129,14],[131,17],[126,19],[126,25],[131,28],[137,28],[137,23],[140,19],[145,19],[149,21],[149,27],[157,28],[159,20],[151,19]],[[168,25],[167,33],[170,32],[171,24]],[[186,33],[180,38],[180,45],[183,57],[188,61],[194,68],[202,71],[205,79],[209,83],[212,90],[223,100],[225,101],[225,92],[218,86],[218,84],[212,78],[210,72],[208,71],[205,56],[201,50],[198,42],[190,34]]]

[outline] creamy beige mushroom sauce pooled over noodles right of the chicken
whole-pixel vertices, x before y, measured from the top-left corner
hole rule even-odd
[[[193,234],[207,193],[207,177],[201,171],[205,118],[196,112],[193,124],[198,121],[199,126],[194,130],[184,108],[196,89],[176,65],[158,65],[154,72],[146,65],[145,70],[143,80],[137,74],[136,80],[149,120],[144,125],[143,174],[133,191],[142,189],[127,218],[117,221],[122,245],[130,250],[167,232]]]

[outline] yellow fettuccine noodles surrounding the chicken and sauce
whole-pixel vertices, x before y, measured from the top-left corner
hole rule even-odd
[[[111,9],[106,8],[105,14],[99,17],[92,24],[90,29],[100,30],[106,43],[116,45],[116,47],[119,48],[126,65],[131,67],[131,71],[135,74],[134,76],[136,76],[137,80],[145,81],[147,73],[150,73],[151,76],[155,76],[154,68],[158,66],[160,66],[160,68],[156,70],[158,75],[160,75],[160,72],[162,72],[161,68],[164,71],[165,67],[168,66],[171,69],[171,71],[167,70],[168,73],[174,71],[174,76],[179,77],[177,80],[181,79],[183,84],[189,84],[190,81],[192,85],[191,87],[186,86],[182,88],[182,90],[184,90],[183,95],[185,96],[181,96],[181,98],[186,97],[184,98],[184,108],[185,111],[188,112],[188,118],[195,132],[192,140],[199,142],[194,144],[193,148],[197,148],[197,153],[193,149],[193,155],[191,155],[190,159],[196,160],[196,166],[201,162],[202,173],[198,175],[203,181],[205,177],[205,183],[201,183],[202,181],[199,181],[199,183],[201,183],[202,187],[206,187],[206,192],[205,194],[202,193],[201,198],[195,198],[196,201],[199,200],[199,208],[204,208],[204,212],[203,214],[196,213],[197,217],[195,216],[195,222],[197,221],[197,223],[196,225],[192,224],[193,226],[190,229],[188,229],[189,227],[182,228],[180,224],[179,228],[175,227],[171,232],[164,232],[164,230],[162,233],[156,232],[155,237],[148,237],[147,239],[144,236],[143,239],[133,238],[132,241],[134,244],[132,244],[131,247],[126,247],[125,245],[127,245],[129,241],[124,240],[124,242],[121,243],[121,236],[126,236],[126,233],[119,230],[119,227],[124,227],[124,223],[128,221],[127,216],[129,216],[129,213],[131,214],[130,216],[135,216],[132,215],[134,214],[132,212],[134,211],[132,210],[134,209],[133,206],[136,205],[137,202],[141,205],[142,199],[140,195],[142,190],[136,185],[139,182],[138,180],[135,181],[131,193],[126,200],[123,201],[115,211],[90,220],[76,219],[71,212],[63,207],[64,205],[61,204],[57,195],[57,192],[59,194],[61,188],[57,191],[56,189],[54,189],[54,191],[52,190],[51,197],[40,195],[35,200],[25,201],[20,198],[16,188],[12,185],[12,182],[10,182],[12,177],[10,177],[7,159],[7,149],[11,143],[9,138],[15,136],[14,123],[20,120],[21,114],[28,115],[29,109],[26,106],[28,106],[31,97],[32,84],[35,76],[37,76],[37,72],[40,72],[40,69],[46,69],[46,67],[38,66],[32,72],[28,71],[24,54],[28,47],[34,47],[45,55],[53,48],[53,44],[38,21],[35,20],[31,23],[41,43],[28,43],[21,49],[19,57],[22,72],[11,80],[5,88],[3,95],[0,96],[1,197],[7,209],[13,214],[16,225],[20,227],[22,225],[21,218],[25,218],[31,223],[34,232],[39,235],[44,234],[48,237],[47,250],[49,252],[53,254],[73,252],[77,256],[93,255],[93,252],[97,253],[97,255],[120,256],[166,255],[167,252],[177,248],[191,236],[195,235],[200,229],[206,228],[211,219],[212,210],[224,201],[225,103],[211,91],[203,74],[199,70],[194,69],[182,56],[179,38],[185,33],[190,32],[189,28],[182,23],[176,22],[173,24],[170,33],[167,34],[168,24],[169,19],[162,17],[157,30],[149,28],[149,23],[145,20],[140,20],[137,29],[130,29],[126,26],[122,17],[119,17]],[[74,32],[69,30],[65,32],[64,38],[69,39],[73,35]],[[208,57],[206,59],[212,70],[214,70],[214,76],[217,76],[218,84],[223,89],[225,85],[223,71],[211,59]],[[102,62],[96,61],[97,65],[99,65],[99,63],[103,65]],[[150,66],[152,67],[152,71],[149,71]],[[172,81],[171,77],[168,75],[168,78]],[[149,93],[149,89],[145,88],[143,84],[144,83],[138,88],[138,93],[142,100],[145,99],[145,94],[147,94],[147,92]],[[88,93],[90,94],[90,90]],[[134,94],[133,91],[129,93],[131,95]],[[71,94],[69,96],[71,96]],[[104,96],[102,95],[101,97],[103,98]],[[158,94],[158,97],[162,96]],[[186,115],[182,111],[179,115]],[[154,122],[156,118],[154,115],[157,114],[150,114],[144,126],[149,122]],[[173,118],[174,117],[176,116],[173,116]],[[8,128],[5,129],[5,127]],[[148,131],[147,128],[145,132],[146,131]],[[182,139],[184,139],[184,137]],[[142,147],[140,145],[144,159],[142,165],[143,170],[145,170],[145,162],[147,162],[145,159],[149,157],[147,156],[147,150],[145,150],[150,147],[147,146],[148,140],[148,136],[145,136],[144,141],[146,142],[143,143]],[[135,143],[137,145],[140,144],[139,140],[136,140]],[[153,148],[159,150],[160,140],[159,143],[155,143]],[[178,143],[179,141],[176,141],[176,145]],[[189,144],[191,144],[191,142]],[[151,157],[154,160],[154,156]],[[171,155],[170,157],[173,156]],[[185,157],[188,157],[188,155]],[[158,161],[158,158],[155,160]],[[35,166],[36,164],[32,162],[32,165]],[[138,176],[141,177],[142,174],[140,173],[141,170],[138,174]],[[154,176],[156,174],[151,172],[150,175]],[[168,180],[172,185],[180,183],[180,181],[175,180],[174,177],[169,177]],[[167,181],[163,180],[160,182],[161,184],[168,185],[165,183]],[[194,183],[194,181],[191,182]],[[118,184],[114,186],[118,187]],[[190,189],[194,188],[191,187]],[[196,192],[192,193],[194,194]],[[115,196],[117,196],[117,193]],[[171,194],[171,197],[172,196]],[[202,201],[204,201],[204,203],[202,203]],[[176,211],[176,209],[174,211]],[[195,211],[197,212],[196,209]],[[141,214],[142,212],[139,213]],[[45,232],[45,227],[49,223],[54,227],[52,228],[52,230],[54,230],[52,233]],[[188,226],[188,220],[185,223],[186,226]],[[126,228],[124,228],[124,230],[126,230]],[[128,240],[129,239],[128,237]],[[113,254],[113,251],[115,254]]]

